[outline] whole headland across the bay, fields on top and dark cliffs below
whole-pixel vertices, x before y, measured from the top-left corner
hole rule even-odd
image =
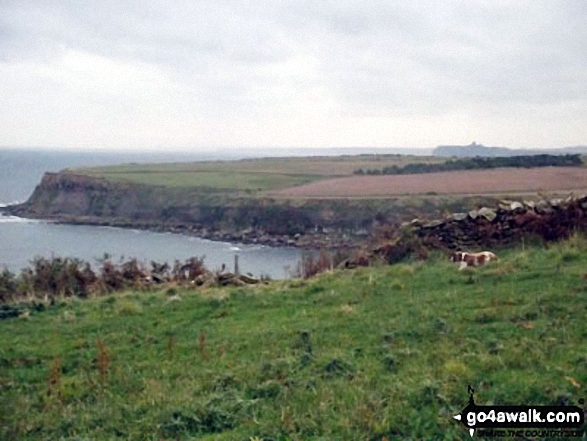
[[[126,164],[47,173],[8,212],[112,226],[185,232],[214,240],[303,248],[354,246],[384,224],[587,188],[587,169],[499,169],[354,176],[358,168],[440,163],[401,155],[263,158]],[[396,179],[397,178],[397,179]]]

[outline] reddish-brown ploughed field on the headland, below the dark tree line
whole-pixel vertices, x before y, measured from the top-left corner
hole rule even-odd
[[[365,197],[406,194],[488,194],[587,189],[587,168],[499,168],[453,172],[353,176],[271,192],[282,197]]]

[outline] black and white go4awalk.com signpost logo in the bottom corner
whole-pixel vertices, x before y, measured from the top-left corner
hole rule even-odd
[[[453,418],[463,423],[473,436],[477,429],[489,429],[483,435],[568,437],[581,436],[585,412],[577,406],[478,406],[469,386],[469,404]],[[584,404],[584,400],[580,400]],[[503,430],[495,430],[503,429]],[[535,430],[529,430],[535,429]],[[542,430],[536,430],[542,429]],[[581,434],[578,434],[581,432]]]

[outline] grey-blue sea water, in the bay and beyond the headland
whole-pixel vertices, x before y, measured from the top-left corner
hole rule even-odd
[[[46,171],[125,162],[179,162],[234,159],[221,153],[109,154],[0,150],[0,205],[26,200]],[[0,215],[0,268],[19,271],[36,256],[76,257],[92,264],[109,254],[114,261],[137,258],[146,264],[205,256],[209,269],[231,270],[238,255],[242,273],[287,278],[296,270],[300,251],[292,248],[216,242],[171,233],[65,225]]]

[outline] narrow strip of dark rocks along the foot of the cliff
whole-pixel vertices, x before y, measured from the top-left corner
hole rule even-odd
[[[37,216],[34,213],[28,212],[23,205],[0,207],[0,214],[3,213],[28,219],[47,220],[58,224],[94,225],[101,227],[147,230],[158,233],[183,234],[186,236],[219,242],[257,244],[271,247],[295,247],[304,250],[318,250],[321,248],[349,249],[357,247],[365,240],[364,236],[351,236],[346,233],[333,233],[328,230],[307,232],[305,234],[298,233],[295,235],[276,235],[254,228],[235,231],[231,229],[210,228],[200,224],[162,222],[157,220],[132,221],[128,219],[74,215]]]

